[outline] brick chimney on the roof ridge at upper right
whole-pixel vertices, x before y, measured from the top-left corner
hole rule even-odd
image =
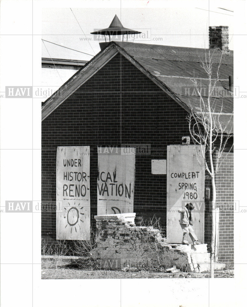
[[[219,27],[209,27],[209,49],[219,48],[227,51],[229,45],[228,26],[220,25]]]

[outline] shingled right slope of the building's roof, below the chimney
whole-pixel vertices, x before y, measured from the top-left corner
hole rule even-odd
[[[209,93],[209,75],[203,63],[211,65],[213,89],[211,111],[221,113],[222,129],[233,132],[233,93],[229,91],[229,76],[233,77],[233,51],[222,53],[219,49],[200,49],[150,44],[115,42],[124,49],[150,74],[155,76],[172,91],[177,98],[195,112],[208,112],[206,105],[201,108],[201,99],[206,103]],[[195,85],[195,82],[197,85]],[[201,93],[201,99],[200,94]]]

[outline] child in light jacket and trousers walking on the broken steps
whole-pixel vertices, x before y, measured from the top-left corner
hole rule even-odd
[[[178,212],[180,212],[180,226],[184,232],[182,244],[189,245],[189,236],[194,245],[201,244],[198,242],[197,236],[191,227],[191,225],[193,225],[193,214],[191,212],[193,209],[194,206],[191,203],[188,203],[185,207],[178,209]]]

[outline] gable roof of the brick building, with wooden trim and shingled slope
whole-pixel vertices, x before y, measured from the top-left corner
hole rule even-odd
[[[102,43],[101,43],[102,44]],[[220,116],[222,129],[231,134],[233,97],[229,94],[229,76],[233,76],[233,51],[222,55],[221,50],[137,44],[131,42],[103,43],[105,48],[74,74],[62,87],[50,96],[42,107],[42,120],[52,113],[66,98],[90,79],[100,68],[118,52],[135,65],[141,72],[171,96],[186,111],[199,111],[200,97],[192,80],[196,80],[202,97],[207,97],[208,76],[202,68],[210,56],[212,78],[217,78],[219,63],[219,81],[213,94],[214,112]]]

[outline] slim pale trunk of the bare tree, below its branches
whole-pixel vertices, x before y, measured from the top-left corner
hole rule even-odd
[[[211,253],[210,253],[210,277],[214,278],[214,254],[215,254],[215,208],[216,208],[216,186],[215,177],[212,176],[213,200],[212,200],[212,238],[211,238]]]

